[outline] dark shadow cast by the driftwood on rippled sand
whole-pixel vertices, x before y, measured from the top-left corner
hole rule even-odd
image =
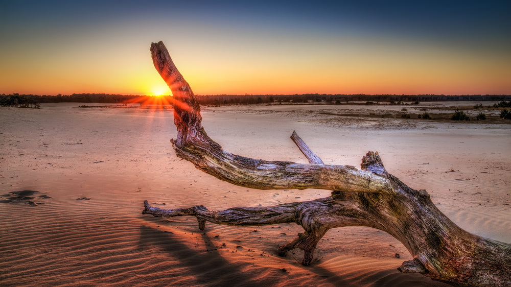
[[[197,232],[200,232],[197,230]],[[274,285],[282,282],[274,282],[272,279],[261,278],[257,271],[250,271],[249,262],[231,262],[222,257],[218,250],[214,247],[211,237],[207,233],[197,233],[202,237],[207,251],[204,247],[190,248],[189,244],[182,243],[182,240],[172,232],[162,231],[160,229],[152,228],[149,226],[140,226],[140,240],[138,241],[138,248],[141,250],[149,249],[149,246],[157,246],[162,251],[166,252],[170,258],[179,261],[178,266],[169,266],[169,269],[186,268],[193,274],[195,282],[192,284],[201,284],[208,286],[215,285],[243,285],[243,286],[261,286],[261,285]],[[275,248],[273,244],[268,243],[268,248]],[[200,249],[199,249],[200,248]],[[275,253],[277,250],[274,250]],[[287,254],[282,257],[282,260],[294,261]],[[298,260],[299,261],[299,260]],[[297,261],[297,262],[298,262]],[[294,264],[294,262],[292,263]],[[421,274],[403,274],[399,272],[381,271],[376,274],[368,275],[366,278],[346,278],[346,276],[339,275],[331,272],[328,269],[318,266],[320,261],[314,261],[312,265],[307,268],[311,273],[322,278],[333,285],[337,286],[352,286],[359,284],[372,284],[374,286],[447,286],[440,282],[432,281]],[[249,270],[249,271],[247,271]],[[180,273],[182,271],[179,271]],[[291,274],[287,274],[292,276]],[[176,274],[176,276],[179,276]],[[351,277],[351,276],[350,276]],[[273,278],[275,280],[275,278]]]

